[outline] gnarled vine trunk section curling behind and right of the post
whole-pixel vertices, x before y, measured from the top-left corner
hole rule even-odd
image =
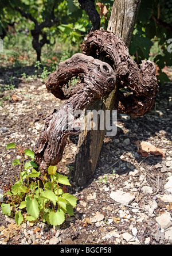
[[[120,87],[127,86],[132,91],[128,97],[118,93],[115,107],[119,112],[130,116],[143,116],[154,106],[158,86],[153,62],[143,60],[138,66],[130,58],[123,41],[112,32],[102,33],[97,30],[89,33],[81,48],[84,54],[95,58],[104,56],[117,71]]]

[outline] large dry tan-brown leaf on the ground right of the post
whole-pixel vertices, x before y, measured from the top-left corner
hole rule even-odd
[[[134,144],[136,144],[138,148],[137,152],[139,152],[143,156],[148,156],[151,154],[151,155],[162,155],[163,157],[165,157],[165,154],[163,154],[161,148],[157,148],[152,144],[150,144],[149,142],[137,141],[137,142],[134,142]]]

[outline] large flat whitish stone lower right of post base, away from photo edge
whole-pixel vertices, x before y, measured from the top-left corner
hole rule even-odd
[[[123,192],[122,190],[116,190],[115,192],[112,192],[110,197],[116,202],[127,205],[129,205],[135,199],[134,194]]]

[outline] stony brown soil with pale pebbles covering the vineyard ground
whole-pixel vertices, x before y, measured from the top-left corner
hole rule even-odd
[[[8,73],[9,72],[9,73]],[[0,83],[11,71],[2,75]],[[20,79],[1,109],[0,189],[5,193],[19,175],[11,162],[15,142],[33,150],[46,114],[62,102],[46,92],[40,80]],[[0,244],[172,244],[171,83],[161,87],[155,108],[144,117],[118,113],[118,132],[105,137],[95,175],[69,193],[78,201],[75,216],[61,226],[27,223],[17,226],[0,210]],[[162,155],[143,156],[133,142],[148,142]],[[77,137],[71,136],[58,165],[61,173],[75,161]],[[72,182],[72,177],[71,177]]]

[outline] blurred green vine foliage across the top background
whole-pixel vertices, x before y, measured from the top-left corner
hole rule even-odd
[[[107,6],[107,17],[101,17],[101,26],[107,29],[114,0],[96,0],[95,2],[101,2]],[[65,55],[65,58],[68,58],[73,51],[80,51],[80,44],[92,26],[77,0],[2,0],[0,2],[0,35],[3,35],[8,24],[14,24],[15,35],[10,31],[6,33],[4,48],[9,49],[9,54],[14,49],[13,59],[15,60],[18,59],[18,52],[15,51],[17,44],[22,49],[27,49],[27,52],[33,50],[30,31],[34,29],[34,22],[30,18],[23,17],[18,12],[18,7],[36,19],[38,24],[50,20],[52,12],[54,17],[58,18],[56,24],[42,29],[42,33],[46,33],[49,40],[49,45],[45,45],[42,52],[42,56],[46,52],[45,59],[43,58],[45,61],[47,58],[51,59],[52,55],[58,55],[60,56],[58,62],[62,56]],[[99,6],[96,5],[96,9],[100,12]],[[158,81],[162,84],[169,81],[163,68],[172,66],[172,54],[167,51],[167,40],[172,35],[171,10],[172,0],[142,0],[129,47],[130,55],[138,64],[143,59],[151,59],[157,64]]]

